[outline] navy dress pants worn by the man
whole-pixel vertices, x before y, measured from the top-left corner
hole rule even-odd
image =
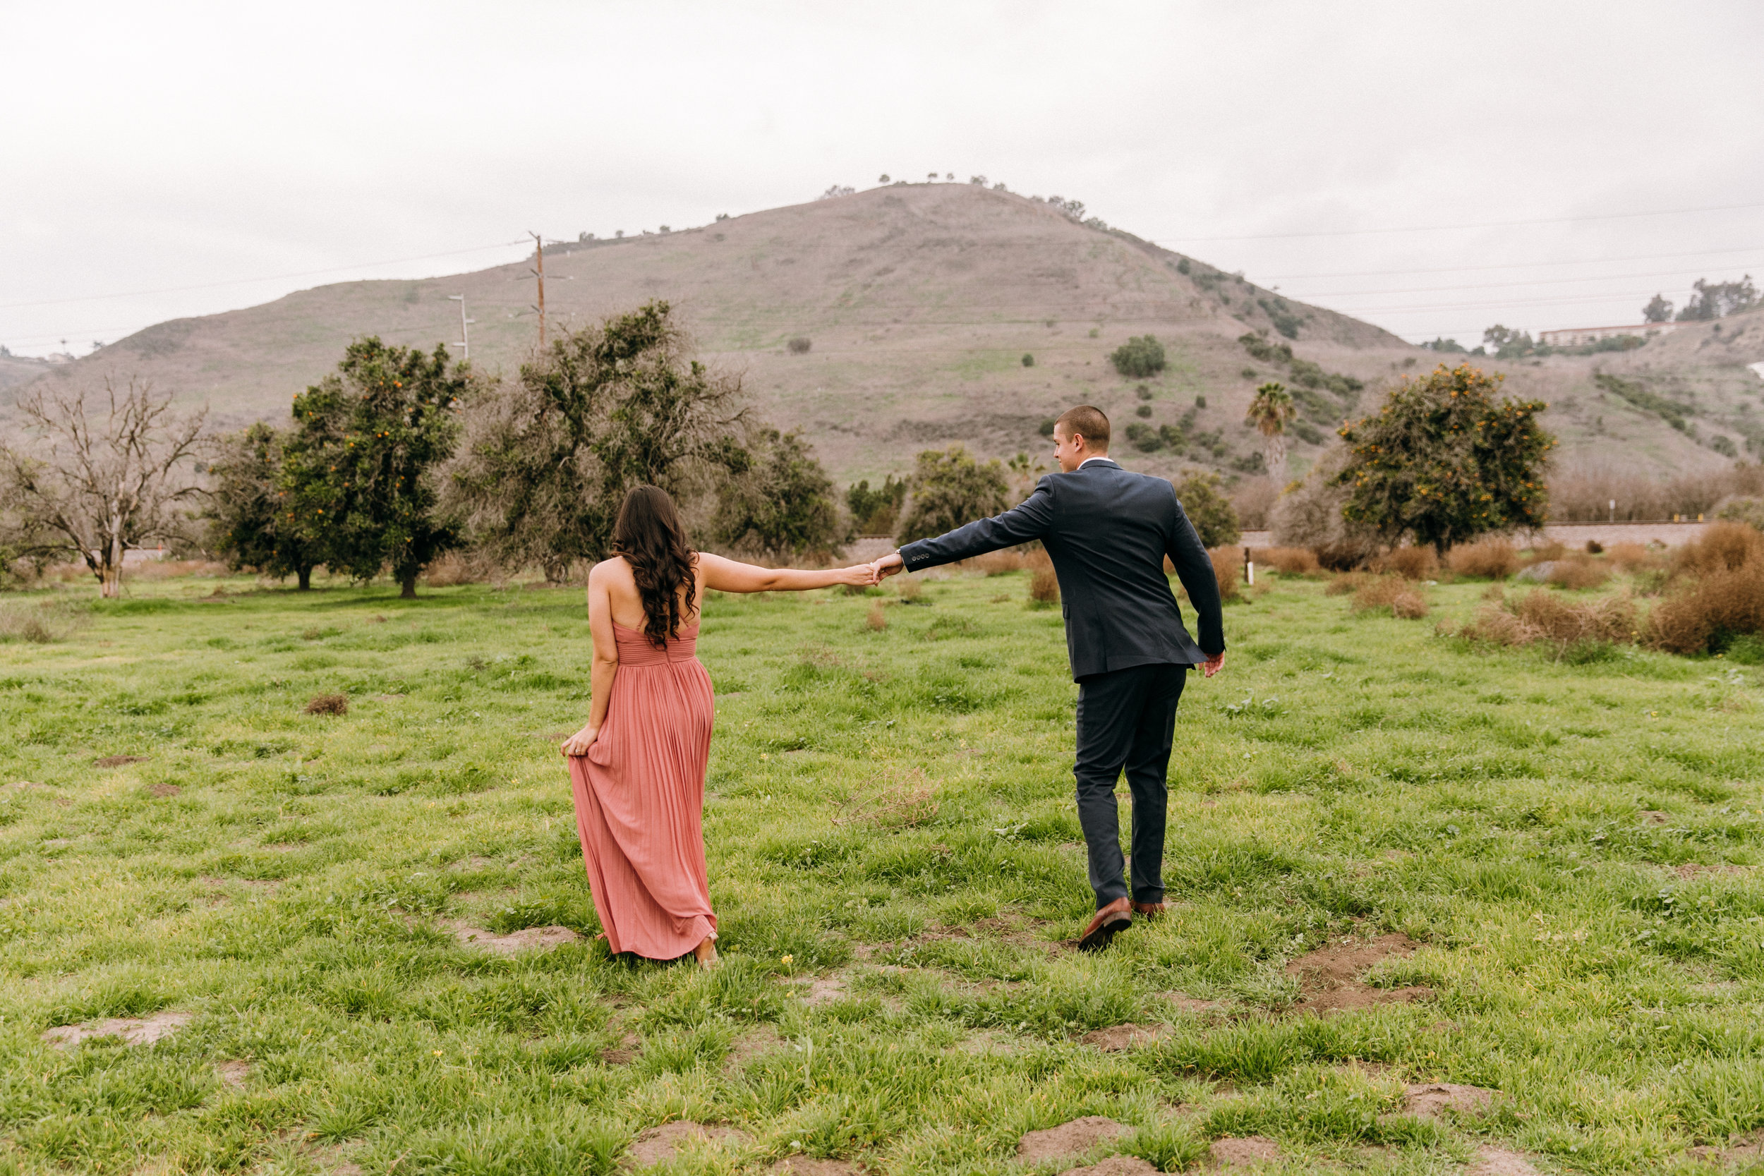
[[[1078,823],[1090,850],[1097,910],[1132,894],[1134,903],[1164,897],[1164,808],[1177,702],[1185,665],[1145,665],[1087,677],[1078,684]],[[1115,781],[1132,790],[1132,889],[1122,876]]]

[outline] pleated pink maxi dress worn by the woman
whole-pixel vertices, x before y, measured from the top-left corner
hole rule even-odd
[[[716,931],[704,867],[704,769],[716,703],[699,622],[667,649],[612,624],[619,674],[594,746],[570,756],[594,912],[614,952],[677,959]]]

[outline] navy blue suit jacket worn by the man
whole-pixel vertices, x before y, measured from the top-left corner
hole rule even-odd
[[[900,557],[907,571],[924,571],[1030,540],[1048,548],[1060,578],[1074,679],[1136,665],[1200,665],[1224,652],[1219,580],[1175,488],[1108,458],[1048,474],[1021,506],[908,543]],[[1164,555],[1194,605],[1200,642],[1182,624]]]

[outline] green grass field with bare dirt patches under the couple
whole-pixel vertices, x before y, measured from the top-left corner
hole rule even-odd
[[[1087,957],[1058,610],[894,584],[707,603],[714,973],[453,933],[596,931],[556,753],[580,591],[173,580],[0,645],[0,1171],[609,1172],[693,1120],[746,1135],[677,1171],[1048,1174],[1018,1137],[1087,1114],[1166,1171],[1244,1135],[1709,1171],[1686,1148],[1764,1127],[1757,670],[1482,652],[1277,582],[1182,703],[1175,910]],[[1397,934],[1305,1010],[1289,961]],[[155,1012],[191,1019],[42,1038]],[[1424,1081],[1501,1093],[1402,1113]]]

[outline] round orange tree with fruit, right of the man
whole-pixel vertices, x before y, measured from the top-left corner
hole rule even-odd
[[[1544,462],[1556,446],[1536,418],[1547,404],[1496,397],[1501,376],[1443,363],[1404,377],[1376,416],[1341,430],[1349,458],[1342,515],[1395,543],[1445,550],[1489,531],[1542,527]]]

